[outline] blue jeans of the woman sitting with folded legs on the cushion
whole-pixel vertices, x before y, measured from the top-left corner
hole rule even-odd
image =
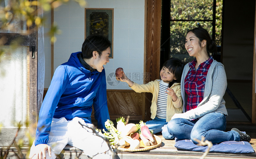
[[[194,139],[201,140],[201,136],[205,140],[212,143],[221,143],[224,141],[240,141],[238,132],[226,129],[226,116],[221,112],[210,112],[199,120],[189,121],[183,118],[172,119],[167,124],[168,132],[178,139]]]

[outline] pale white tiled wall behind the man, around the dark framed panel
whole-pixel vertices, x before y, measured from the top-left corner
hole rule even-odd
[[[114,8],[113,59],[104,66],[107,89],[130,89],[126,83],[115,81],[114,72],[118,67],[122,67],[131,80],[142,83],[145,1],[86,0],[86,2],[86,8]],[[62,30],[62,34],[57,35],[57,41],[54,43],[55,70],[57,66],[68,60],[71,53],[81,51],[85,39],[85,8],[70,1],[54,9],[54,21]],[[49,46],[50,43],[45,42],[45,88],[49,87],[51,78],[51,47]]]

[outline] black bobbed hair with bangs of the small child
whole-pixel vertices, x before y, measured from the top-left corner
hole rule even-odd
[[[168,87],[171,87],[174,83],[180,83],[184,64],[178,58],[170,58],[169,60],[165,61],[160,70],[162,70],[163,67],[170,70],[170,72],[176,78],[176,80],[172,80],[169,83]]]

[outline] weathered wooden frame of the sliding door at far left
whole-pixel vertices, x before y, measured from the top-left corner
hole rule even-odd
[[[28,81],[27,86],[29,87],[28,91],[28,119],[29,119],[29,128],[21,128],[18,132],[18,139],[23,139],[24,144],[29,144],[29,139],[26,133],[29,131],[30,137],[35,137],[36,132],[36,123],[37,123],[37,26],[35,23],[32,24],[31,27],[27,30],[28,33],[0,33],[0,37],[4,36],[6,38],[6,43],[4,45],[12,45],[12,41],[21,40],[18,46],[29,46],[29,69],[28,69]],[[14,72],[15,73],[15,72]],[[17,132],[17,127],[14,128],[2,128],[0,133],[0,146],[9,146]]]

